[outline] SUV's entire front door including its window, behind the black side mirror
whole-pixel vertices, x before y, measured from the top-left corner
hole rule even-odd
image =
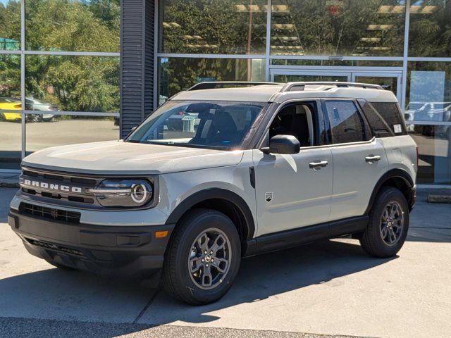
[[[297,137],[298,154],[254,149],[258,236],[328,220],[333,162],[332,152],[318,137],[324,130],[318,111],[316,101],[285,104],[267,131],[268,139],[276,134]]]

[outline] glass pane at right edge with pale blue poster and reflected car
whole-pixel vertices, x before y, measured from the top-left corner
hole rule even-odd
[[[451,122],[451,64],[409,62],[407,121]]]

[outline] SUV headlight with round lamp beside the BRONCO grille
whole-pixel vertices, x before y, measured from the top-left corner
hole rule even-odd
[[[147,180],[104,180],[88,190],[102,206],[137,207],[149,203],[154,194]]]

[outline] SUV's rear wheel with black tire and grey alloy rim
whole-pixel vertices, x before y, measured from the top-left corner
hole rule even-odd
[[[378,258],[395,256],[409,229],[409,206],[402,192],[393,187],[382,187],[369,218],[369,225],[360,239],[364,251]]]

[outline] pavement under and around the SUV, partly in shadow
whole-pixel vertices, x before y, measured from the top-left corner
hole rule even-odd
[[[13,193],[0,189],[0,337],[450,337],[451,205],[426,191],[395,258],[353,239],[246,258],[230,292],[197,307],[30,256],[1,223]]]

